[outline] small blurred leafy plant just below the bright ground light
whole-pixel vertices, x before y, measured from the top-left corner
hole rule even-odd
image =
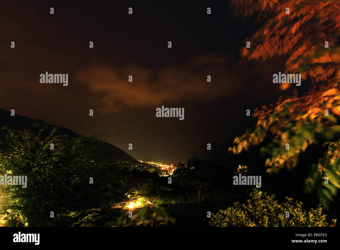
[[[164,208],[159,207],[157,204],[149,204],[142,207],[137,213],[133,214],[132,218],[129,217],[129,212],[127,211],[125,215],[119,218],[119,226],[158,227],[175,223],[175,219],[169,217]]]

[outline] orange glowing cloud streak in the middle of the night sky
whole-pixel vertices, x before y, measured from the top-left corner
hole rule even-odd
[[[98,105],[102,112],[108,113],[123,107],[155,107],[164,102],[211,100],[235,94],[240,77],[227,68],[225,58],[203,55],[156,70],[136,65],[119,69],[92,65],[80,70],[78,80],[91,94],[101,95]],[[132,82],[128,81],[129,75]],[[211,82],[207,82],[207,75],[211,76]]]

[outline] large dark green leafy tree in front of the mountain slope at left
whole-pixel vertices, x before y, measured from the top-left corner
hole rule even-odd
[[[120,189],[115,178],[118,169],[91,159],[99,135],[69,139],[54,135],[53,129],[43,137],[45,128],[38,125],[22,131],[3,130],[6,148],[0,151],[0,175],[27,176],[28,183],[26,188],[1,186],[0,214],[20,214],[28,226],[74,226],[92,209],[109,209]],[[94,184],[89,184],[90,177]],[[51,211],[54,218],[50,218]]]

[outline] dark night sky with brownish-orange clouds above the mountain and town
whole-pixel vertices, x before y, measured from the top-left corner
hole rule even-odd
[[[260,24],[228,1],[46,2],[1,3],[0,108],[81,135],[112,131],[107,142],[138,160],[175,164],[207,143],[221,154],[254,125],[246,109],[290,91],[272,82],[284,59],[239,65]],[[67,73],[68,86],[40,83],[46,71]],[[157,118],[162,105],[184,120]]]

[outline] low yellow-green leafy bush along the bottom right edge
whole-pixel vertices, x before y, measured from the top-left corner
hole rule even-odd
[[[328,224],[320,205],[307,211],[302,202],[286,197],[287,201],[279,204],[274,197],[267,193],[261,195],[254,189],[244,204],[235,202],[233,207],[212,214],[209,224],[215,227],[334,227],[336,224],[336,219]]]

